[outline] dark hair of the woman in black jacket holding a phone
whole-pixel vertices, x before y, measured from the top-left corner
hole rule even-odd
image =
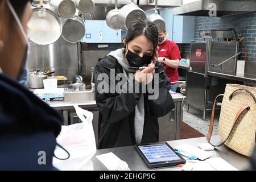
[[[154,23],[148,20],[144,20],[142,18],[138,18],[135,19],[134,22],[131,24],[131,27],[128,28],[125,38],[123,39],[126,40],[127,44],[139,35],[144,35],[147,39],[151,40],[154,46],[154,54],[152,55],[152,57],[154,57],[156,49],[158,47],[158,28],[155,26]],[[126,46],[124,52],[126,52]]]

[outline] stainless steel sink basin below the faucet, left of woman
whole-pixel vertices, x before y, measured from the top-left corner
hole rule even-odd
[[[88,91],[74,91],[74,92],[65,92],[64,102],[86,102],[94,101],[95,93],[91,90]]]

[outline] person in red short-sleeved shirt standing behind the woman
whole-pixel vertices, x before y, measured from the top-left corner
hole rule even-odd
[[[180,50],[175,42],[168,40],[166,28],[159,33],[158,38],[158,61],[166,68],[166,74],[171,82],[171,90],[176,92],[179,73],[177,68],[180,63]]]

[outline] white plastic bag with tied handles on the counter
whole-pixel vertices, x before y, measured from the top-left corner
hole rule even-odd
[[[57,137],[57,143],[70,154],[69,159],[59,160],[53,158],[53,166],[59,170],[93,170],[92,158],[96,153],[96,142],[92,126],[93,113],[74,105],[77,116],[82,123],[62,126]],[[57,158],[67,158],[67,154],[56,148]]]

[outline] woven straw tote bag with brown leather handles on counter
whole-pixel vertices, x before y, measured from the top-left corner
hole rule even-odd
[[[225,93],[216,97],[212,110],[207,140],[212,137],[214,110],[218,97],[224,96],[221,105],[218,135],[221,146],[225,144],[232,150],[250,156],[256,142],[256,88],[227,84]]]

